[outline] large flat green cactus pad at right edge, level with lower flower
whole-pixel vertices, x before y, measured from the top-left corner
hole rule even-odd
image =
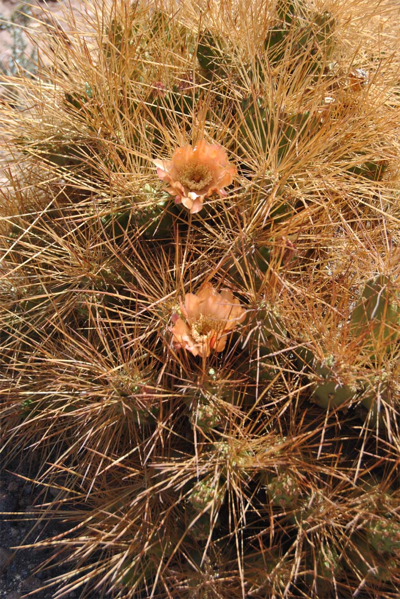
[[[400,310],[390,279],[378,275],[364,287],[350,318],[351,334],[362,340],[362,353],[376,362],[379,353],[390,352],[400,338]],[[379,353],[375,350],[379,348]]]

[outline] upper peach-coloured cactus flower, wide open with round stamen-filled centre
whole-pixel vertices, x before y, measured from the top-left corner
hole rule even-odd
[[[219,144],[200,140],[178,147],[172,160],[154,160],[157,175],[169,184],[166,191],[175,195],[176,204],[183,204],[191,213],[199,212],[203,199],[213,192],[224,197],[224,187],[236,175],[236,167],[228,161],[227,153]]]

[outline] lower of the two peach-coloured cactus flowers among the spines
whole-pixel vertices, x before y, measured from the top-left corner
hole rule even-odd
[[[246,316],[231,291],[222,289],[219,294],[210,283],[205,283],[197,294],[186,294],[185,304],[182,299],[179,302],[183,318],[172,316],[174,347],[185,347],[194,356],[207,358],[212,349],[222,352],[228,333]]]

